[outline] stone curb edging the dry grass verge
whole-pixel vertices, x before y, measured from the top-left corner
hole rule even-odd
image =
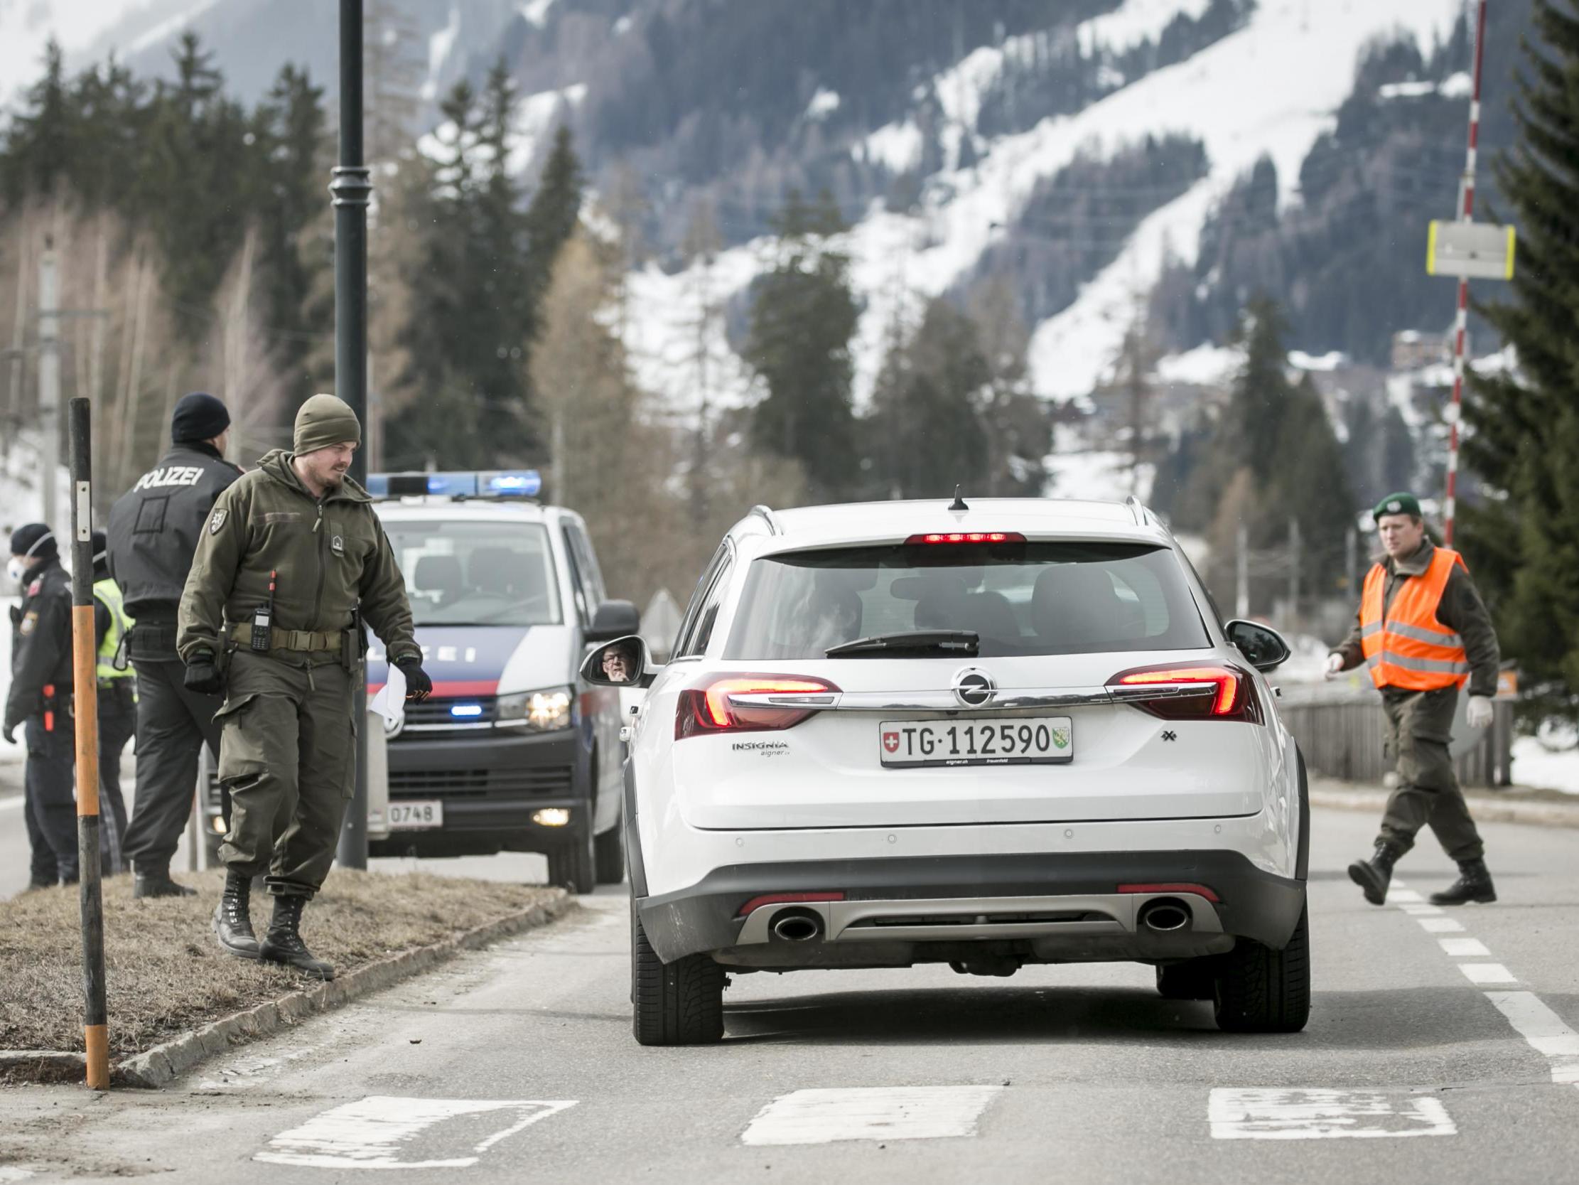
[[[401,980],[447,962],[459,951],[477,950],[501,939],[521,934],[523,931],[545,926],[573,908],[576,908],[575,899],[564,890],[559,890],[557,896],[529,910],[510,913],[429,946],[417,946],[415,950],[392,954],[387,959],[363,964],[328,983],[254,1005],[246,1011],[224,1016],[201,1029],[182,1033],[145,1052],[122,1059],[111,1066],[111,1082],[114,1085],[144,1087],[150,1090],[167,1085],[199,1062],[215,1054],[223,1054],[231,1046],[256,1041],[308,1016],[327,1013],[363,995],[390,988]],[[25,1078],[32,1082],[81,1081],[85,1073],[85,1059],[82,1054],[74,1052],[0,1049],[0,1078],[5,1078],[6,1071],[27,1071]]]

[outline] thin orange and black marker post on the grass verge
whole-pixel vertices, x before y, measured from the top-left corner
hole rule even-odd
[[[77,741],[77,869],[82,902],[82,1035],[88,1089],[109,1090],[104,886],[99,878],[98,643],[93,630],[93,436],[88,401],[71,400],[71,670]]]

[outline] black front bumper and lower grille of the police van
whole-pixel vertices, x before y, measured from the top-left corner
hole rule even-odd
[[[392,831],[373,855],[546,852],[591,826],[591,765],[579,730],[519,736],[401,736],[388,744],[390,803],[439,799],[444,826]],[[568,826],[542,826],[543,807],[570,809]]]

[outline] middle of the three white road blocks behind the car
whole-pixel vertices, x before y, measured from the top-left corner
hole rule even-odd
[[[974,1136],[998,1085],[794,1090],[756,1112],[742,1144]]]

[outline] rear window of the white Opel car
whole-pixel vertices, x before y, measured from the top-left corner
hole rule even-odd
[[[725,657],[820,659],[917,629],[973,630],[984,657],[1211,645],[1170,548],[933,544],[755,561]]]

